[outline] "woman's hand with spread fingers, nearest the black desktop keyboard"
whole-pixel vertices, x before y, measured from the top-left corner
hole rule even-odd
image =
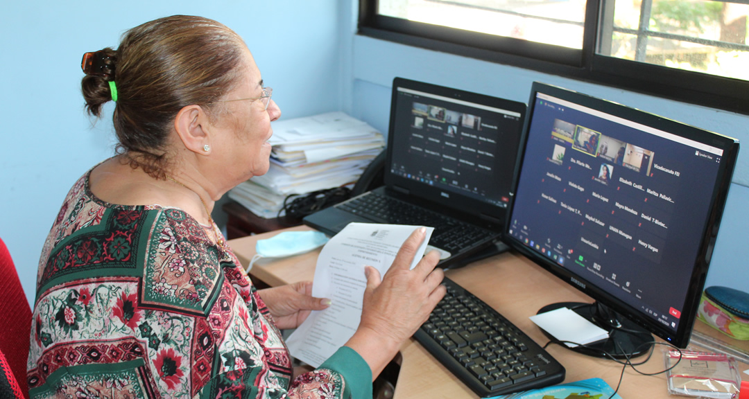
[[[424,237],[424,228],[414,231],[383,278],[380,279],[380,272],[374,267],[367,266],[365,270],[367,287],[361,322],[346,345],[369,364],[373,379],[445,296],[446,289],[440,284],[443,271],[434,269],[440,261],[436,251],[429,252],[413,270],[409,269]]]

